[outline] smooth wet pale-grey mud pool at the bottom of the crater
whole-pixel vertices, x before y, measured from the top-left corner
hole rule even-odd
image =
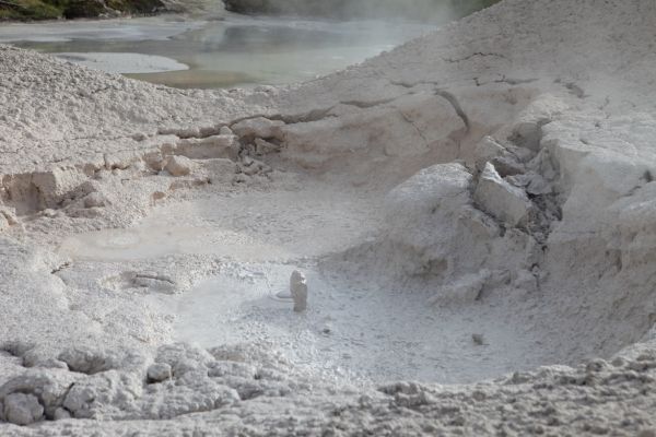
[[[431,304],[432,287],[380,284],[331,265],[335,253],[373,239],[379,203],[315,184],[246,192],[163,206],[133,228],[72,236],[60,250],[95,263],[180,253],[225,259],[219,274],[189,292],[149,296],[174,320],[173,340],[272,345],[296,370],[336,382],[470,382],[541,363],[537,336],[505,305],[444,310]],[[294,270],[309,288],[301,314],[279,297],[289,294]],[[481,334],[478,344],[472,338]]]

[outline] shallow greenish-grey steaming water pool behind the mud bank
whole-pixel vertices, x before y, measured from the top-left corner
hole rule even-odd
[[[75,54],[124,52],[172,58],[189,67],[184,71],[126,74],[130,78],[176,87],[232,87],[255,84],[285,84],[313,79],[388,50],[432,29],[413,23],[327,22],[285,19],[229,16],[225,21],[192,22],[177,34],[150,38],[149,26],[161,26],[166,17],[150,21],[114,21],[96,33],[75,32],[78,23],[60,27],[60,39],[35,40],[25,25],[25,38],[13,44],[44,52]],[[125,23],[129,22],[129,23]],[[89,22],[81,25],[89,26]],[[33,26],[38,26],[34,24]],[[16,38],[15,28],[13,29]],[[3,37],[0,28],[0,40]],[[55,32],[56,34],[56,32]],[[49,36],[54,35],[50,29]],[[82,35],[82,36],[81,36]],[[106,38],[105,36],[109,36]],[[130,38],[130,35],[133,35]],[[31,40],[32,39],[32,40]],[[57,38],[52,38],[57,39]],[[115,66],[116,67],[116,66]],[[125,71],[134,71],[127,68]],[[102,68],[102,67],[101,67]],[[163,69],[164,70],[164,69]]]

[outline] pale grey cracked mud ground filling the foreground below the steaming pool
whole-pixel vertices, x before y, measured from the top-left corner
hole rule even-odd
[[[0,46],[0,434],[656,435],[655,28],[506,0],[251,91]]]

